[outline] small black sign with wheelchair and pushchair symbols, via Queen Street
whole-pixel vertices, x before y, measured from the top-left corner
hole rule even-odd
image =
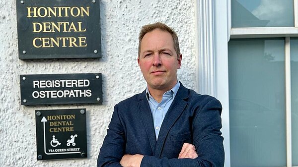
[[[36,110],[37,160],[86,158],[86,109]]]

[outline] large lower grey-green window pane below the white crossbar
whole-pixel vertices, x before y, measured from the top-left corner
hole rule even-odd
[[[231,167],[285,167],[285,40],[228,43]]]

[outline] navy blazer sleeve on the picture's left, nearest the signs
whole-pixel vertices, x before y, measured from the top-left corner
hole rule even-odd
[[[124,156],[124,152],[124,127],[119,118],[117,105],[115,105],[107,135],[99,151],[97,167],[121,167],[119,162]]]

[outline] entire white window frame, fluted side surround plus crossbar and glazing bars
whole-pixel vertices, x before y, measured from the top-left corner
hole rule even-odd
[[[298,37],[298,0],[294,0],[295,27],[231,28],[231,0],[196,0],[196,6],[197,90],[217,97],[223,105],[224,167],[230,167],[227,43],[230,38],[285,38],[287,167],[292,167],[290,37]]]

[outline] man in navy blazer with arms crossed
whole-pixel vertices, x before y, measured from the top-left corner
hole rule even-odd
[[[178,82],[181,60],[171,28],[142,28],[138,63],[147,89],[115,105],[97,167],[224,166],[222,106]]]

